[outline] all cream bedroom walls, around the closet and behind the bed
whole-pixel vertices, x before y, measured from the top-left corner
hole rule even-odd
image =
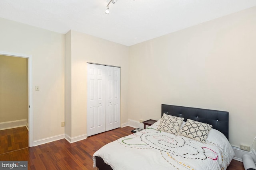
[[[159,119],[161,104],[174,104],[229,111],[234,146],[255,136],[256,7],[131,47],[2,18],[0,25],[0,51],[33,58],[34,141],[86,133],[87,62],[121,66],[121,124]]]

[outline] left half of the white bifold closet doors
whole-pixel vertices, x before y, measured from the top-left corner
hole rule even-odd
[[[105,66],[87,64],[87,136],[105,131]]]

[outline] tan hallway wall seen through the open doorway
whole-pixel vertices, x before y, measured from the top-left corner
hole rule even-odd
[[[0,122],[27,119],[28,59],[0,55]]]

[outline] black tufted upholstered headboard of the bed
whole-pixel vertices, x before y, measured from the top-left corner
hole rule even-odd
[[[192,119],[195,121],[208,123],[212,125],[212,128],[223,133],[228,139],[228,111],[162,104],[162,115],[163,113],[184,117],[184,121],[187,121],[187,119]]]

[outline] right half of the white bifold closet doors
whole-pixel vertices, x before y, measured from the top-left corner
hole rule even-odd
[[[120,68],[106,66],[106,131],[120,127]]]

